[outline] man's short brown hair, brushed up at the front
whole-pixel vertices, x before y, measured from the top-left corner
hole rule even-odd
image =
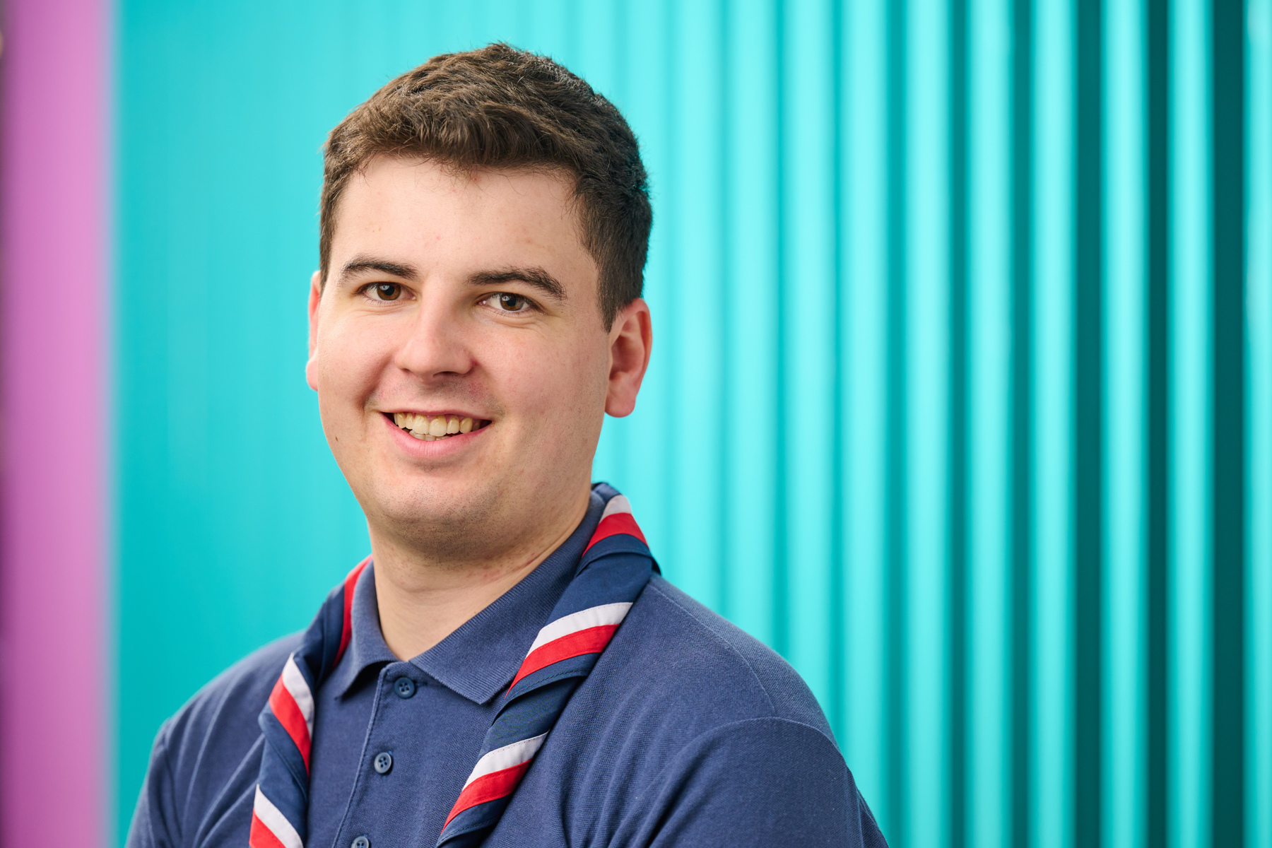
[[[551,58],[504,43],[434,56],[350,112],[323,156],[323,282],[341,193],[382,155],[572,174],[607,329],[640,297],[653,211],[636,136],[609,100]]]

